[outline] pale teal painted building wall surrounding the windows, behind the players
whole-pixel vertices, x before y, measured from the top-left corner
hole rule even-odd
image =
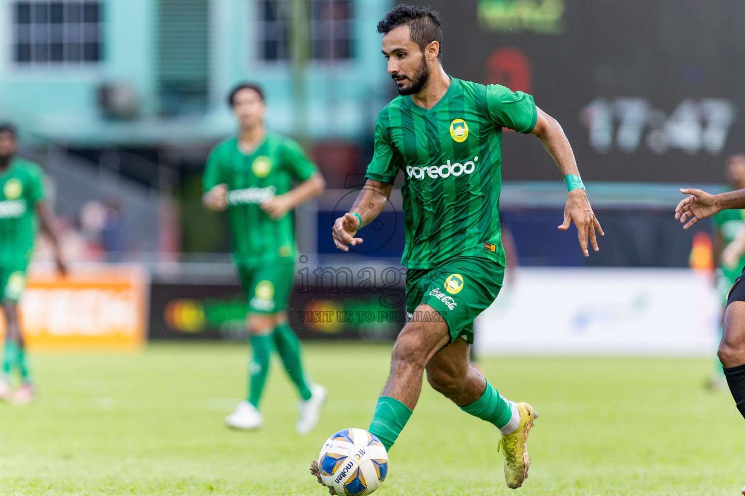
[[[309,138],[358,138],[372,132],[391,88],[375,25],[391,4],[390,0],[356,0],[355,59],[336,65],[311,63],[306,77]],[[12,29],[12,6],[12,0],[0,0],[0,33]],[[156,0],[104,0],[104,61],[95,66],[19,67],[11,59],[10,36],[0,36],[0,119],[73,144],[209,141],[234,129],[224,101],[229,88],[252,80],[266,88],[268,125],[278,132],[298,134],[289,65],[256,58],[253,0],[212,0],[206,115],[158,117],[156,7]],[[139,99],[139,119],[112,122],[101,117],[96,103],[101,83],[132,86]]]

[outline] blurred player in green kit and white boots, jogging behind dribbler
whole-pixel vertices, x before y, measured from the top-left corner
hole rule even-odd
[[[285,307],[297,255],[293,210],[319,195],[326,183],[297,143],[267,133],[264,93],[259,86],[236,87],[229,104],[240,130],[209,155],[203,202],[212,210],[228,213],[231,251],[248,299],[253,361],[247,399],[225,420],[234,428],[261,427],[259,400],[271,350],[276,348],[302,398],[295,428],[307,434],[318,423],[326,389],[309,383],[302,369],[300,341],[288,324]],[[299,181],[297,187],[293,181]]]

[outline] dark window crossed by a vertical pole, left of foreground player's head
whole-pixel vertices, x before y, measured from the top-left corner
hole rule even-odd
[[[259,59],[290,58],[291,0],[259,0]],[[311,58],[352,58],[352,0],[311,0]]]

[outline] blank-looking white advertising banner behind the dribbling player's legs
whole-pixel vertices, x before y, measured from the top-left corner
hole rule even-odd
[[[475,322],[481,355],[711,356],[711,276],[678,268],[519,268]]]

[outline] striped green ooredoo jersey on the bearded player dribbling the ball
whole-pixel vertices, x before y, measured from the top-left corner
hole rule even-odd
[[[456,256],[504,265],[502,128],[528,133],[537,118],[529,94],[455,78],[429,110],[399,96],[378,114],[366,177],[393,183],[404,172],[403,265],[431,268]]]

